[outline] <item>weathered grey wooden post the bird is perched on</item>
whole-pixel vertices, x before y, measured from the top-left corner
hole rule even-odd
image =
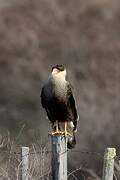
[[[52,180],[67,180],[67,138],[51,136],[52,140]]]

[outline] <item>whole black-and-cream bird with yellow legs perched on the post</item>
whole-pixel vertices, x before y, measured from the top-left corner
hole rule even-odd
[[[67,147],[71,149],[76,145],[75,132],[79,116],[72,86],[66,76],[66,68],[63,65],[52,67],[41,90],[41,104],[52,124],[50,134],[68,137]]]

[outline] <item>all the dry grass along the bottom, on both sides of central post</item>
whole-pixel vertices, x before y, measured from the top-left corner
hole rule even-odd
[[[22,129],[18,134],[22,133]],[[3,156],[0,163],[0,180],[20,180],[22,160],[21,146],[16,144],[16,141],[8,138],[4,140],[3,146],[0,147],[0,158]],[[17,139],[17,138],[16,138]],[[9,141],[8,141],[9,140]],[[50,180],[51,179],[51,152],[47,145],[33,143],[29,151],[29,168],[26,174],[29,180]],[[68,152],[69,156],[69,152]],[[97,173],[90,168],[86,168],[82,162],[80,166],[69,171],[68,180],[101,180]],[[115,161],[114,180],[120,180],[119,161]]]

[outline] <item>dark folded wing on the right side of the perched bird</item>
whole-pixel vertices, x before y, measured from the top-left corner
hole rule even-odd
[[[72,110],[73,125],[74,125],[74,131],[75,131],[76,128],[77,128],[78,114],[77,114],[77,109],[76,109],[76,105],[75,105],[75,99],[73,97],[73,93],[72,93],[72,89],[71,89],[71,85],[70,84],[68,84],[67,95],[68,95],[69,107]]]

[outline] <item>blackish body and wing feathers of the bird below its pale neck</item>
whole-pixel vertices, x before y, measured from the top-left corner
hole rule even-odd
[[[54,93],[54,85],[45,85],[41,92],[41,104],[46,109],[51,122],[72,121],[74,130],[77,127],[77,110],[70,85],[67,84],[67,92],[63,99]]]

